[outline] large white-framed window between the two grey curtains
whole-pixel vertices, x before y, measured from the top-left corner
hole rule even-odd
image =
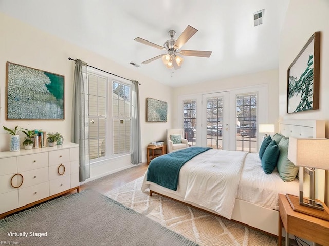
[[[130,153],[131,84],[88,68],[87,94],[90,160]]]

